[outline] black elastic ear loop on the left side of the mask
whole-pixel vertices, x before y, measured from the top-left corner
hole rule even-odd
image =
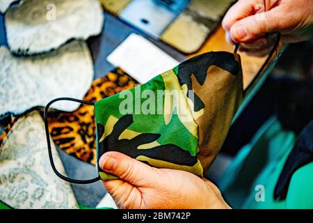
[[[45,120],[45,129],[46,129],[46,137],[47,137],[47,144],[48,144],[48,153],[49,153],[49,160],[50,160],[51,167],[52,167],[54,173],[56,174],[56,176],[58,176],[58,177],[61,178],[62,180],[66,180],[67,182],[70,182],[70,183],[78,183],[78,184],[94,183],[94,182],[96,182],[97,180],[100,180],[100,176],[97,176],[96,178],[93,178],[93,179],[91,179],[91,180],[75,180],[75,179],[68,178],[68,177],[63,176],[62,174],[60,174],[60,173],[58,172],[58,170],[56,169],[56,166],[54,165],[54,158],[53,158],[53,156],[52,156],[52,151],[51,151],[50,134],[49,134],[49,125],[48,125],[48,110],[49,110],[49,107],[50,107],[54,102],[57,102],[57,101],[60,101],[60,100],[69,100],[69,101],[72,101],[72,102],[79,102],[79,103],[81,103],[81,104],[95,106],[95,103],[93,103],[93,102],[88,102],[88,101],[85,101],[85,100],[78,100],[78,99],[75,99],[75,98],[56,98],[56,99],[54,99],[54,100],[51,100],[51,102],[49,102],[49,103],[46,105],[46,107],[45,107],[45,113],[44,113],[44,120]]]

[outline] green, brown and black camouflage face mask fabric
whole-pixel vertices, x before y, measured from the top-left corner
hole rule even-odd
[[[95,103],[97,160],[118,151],[202,177],[243,98],[238,54],[208,52]],[[102,180],[115,178],[98,167]]]

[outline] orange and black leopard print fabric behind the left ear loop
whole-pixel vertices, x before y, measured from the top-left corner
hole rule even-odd
[[[138,82],[116,68],[106,77],[96,79],[83,100],[97,102],[120,91],[131,89]],[[79,160],[96,164],[96,125],[94,107],[81,105],[74,112],[49,113],[49,132],[54,143]]]

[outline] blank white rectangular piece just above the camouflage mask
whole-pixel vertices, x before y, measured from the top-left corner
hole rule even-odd
[[[159,47],[135,33],[131,33],[107,57],[107,61],[125,70],[141,84],[179,64]]]

